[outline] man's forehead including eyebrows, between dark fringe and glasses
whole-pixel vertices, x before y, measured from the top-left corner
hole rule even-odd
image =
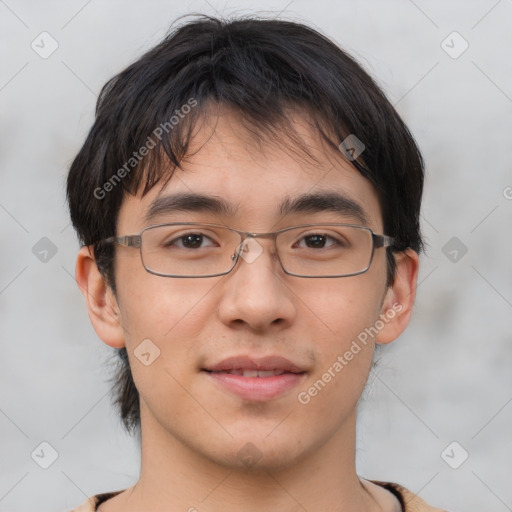
[[[327,146],[306,117],[292,123],[309,155],[286,133],[277,139],[256,136],[228,109],[206,118],[182,168],[165,185],[124,198],[118,233],[205,216],[251,231],[278,229],[292,220],[346,220],[380,230],[381,209],[372,184]]]

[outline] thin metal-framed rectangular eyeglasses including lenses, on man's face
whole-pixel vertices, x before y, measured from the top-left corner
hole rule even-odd
[[[285,273],[297,277],[346,277],[370,268],[374,250],[392,237],[351,224],[304,224],[270,233],[250,233],[196,222],[157,224],[138,235],[100,243],[140,249],[144,268],[162,277],[215,277],[231,272],[240,258],[252,263],[263,252],[257,238],[271,238]]]

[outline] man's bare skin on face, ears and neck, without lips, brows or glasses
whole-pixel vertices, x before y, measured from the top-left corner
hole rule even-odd
[[[341,222],[331,212],[282,217],[277,211],[285,197],[337,191],[361,204],[367,226],[383,233],[373,186],[327,150],[305,118],[293,122],[316,163],[278,143],[256,145],[228,109],[215,122],[215,127],[202,125],[194,141],[198,151],[165,187],[144,197],[126,196],[117,234],[139,233],[147,226],[143,216],[151,201],[178,191],[222,197],[238,212],[235,217],[174,213],[158,222],[213,222],[253,232]],[[418,255],[412,250],[396,255],[396,279],[386,288],[384,249],[375,251],[364,274],[303,279],[282,271],[271,240],[258,242],[265,250],[255,261],[241,260],[230,274],[204,279],[151,275],[138,250],[117,246],[116,296],[91,249],[81,249],[76,277],[91,322],[107,345],[127,348],[141,399],[140,479],[105,502],[103,512],[400,510],[388,491],[356,474],[356,406],[375,343],[393,341],[409,322]],[[377,337],[308,404],[299,403],[298,393],[321,378],[393,304],[401,309]],[[160,356],[145,366],[133,351],[148,338]],[[307,373],[299,387],[253,402],[221,389],[200,371],[241,353],[285,356]],[[259,456],[251,467],[238,457],[247,443]]]

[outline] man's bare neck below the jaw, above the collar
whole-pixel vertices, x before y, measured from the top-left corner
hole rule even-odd
[[[379,510],[356,474],[355,413],[300,460],[258,470],[208,459],[163,429],[147,411],[141,416],[140,479],[124,493],[123,510]]]

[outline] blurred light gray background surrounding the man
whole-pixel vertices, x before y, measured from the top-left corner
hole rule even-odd
[[[358,470],[453,512],[512,510],[512,1],[5,0],[0,511],[66,510],[137,478],[137,445],[110,406],[110,352],[73,280],[64,179],[100,87],[193,11],[312,24],[409,124],[427,164],[429,247],[412,323],[365,393]],[[31,47],[51,49],[43,31],[59,45],[46,59]],[[469,44],[460,55],[453,31]],[[48,469],[44,441],[58,453]]]

